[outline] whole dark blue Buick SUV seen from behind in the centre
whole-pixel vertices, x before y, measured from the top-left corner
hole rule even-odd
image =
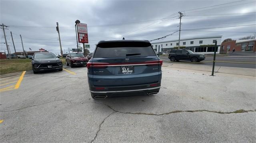
[[[87,63],[94,99],[152,95],[160,90],[163,61],[149,41],[100,41]]]

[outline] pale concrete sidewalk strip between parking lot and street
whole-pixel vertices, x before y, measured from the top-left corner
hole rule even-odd
[[[208,65],[190,65],[190,64],[176,64],[176,63],[164,63],[163,67],[170,67],[176,69],[188,69],[194,71],[206,71],[212,72],[212,66]],[[237,67],[220,67],[215,66],[214,73],[226,73],[226,74],[238,74],[245,76],[256,76],[256,69],[237,68]]]

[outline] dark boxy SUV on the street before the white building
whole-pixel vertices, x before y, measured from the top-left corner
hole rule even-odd
[[[169,53],[168,58],[170,61],[179,61],[179,60],[184,60],[184,61],[191,61],[193,63],[195,62],[200,62],[205,59],[204,54],[196,54],[190,50],[186,49],[179,49],[179,50],[171,50]]]

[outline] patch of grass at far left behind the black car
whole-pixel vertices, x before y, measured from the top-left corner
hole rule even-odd
[[[0,59],[0,75],[32,70],[31,59]]]

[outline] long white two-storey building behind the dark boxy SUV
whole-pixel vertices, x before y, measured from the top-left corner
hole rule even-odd
[[[214,53],[214,44],[217,41],[218,50],[216,53],[220,53],[220,44],[222,36],[206,36],[206,37],[194,37],[180,39],[180,49],[190,49],[194,53],[212,54]],[[152,42],[153,49],[158,52],[169,53],[172,49],[178,48],[178,40]]]

